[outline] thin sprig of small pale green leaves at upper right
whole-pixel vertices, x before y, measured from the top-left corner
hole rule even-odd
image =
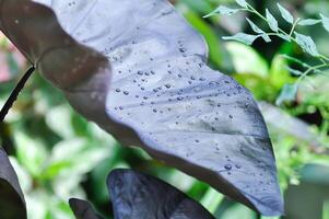
[[[329,57],[319,53],[315,41],[310,36],[304,35],[298,32],[298,26],[313,26],[313,25],[320,25],[320,24],[324,26],[325,31],[329,32],[329,18],[327,18],[324,14],[319,14],[319,19],[295,18],[287,9],[285,9],[280,3],[278,3],[278,10],[281,13],[281,16],[285,22],[291,24],[291,30],[286,32],[280,27],[278,20],[274,18],[274,15],[270,12],[269,9],[267,9],[265,14],[262,14],[259,11],[257,11],[246,0],[236,0],[236,4],[237,7],[235,8],[220,5],[213,12],[205,15],[204,18],[216,15],[216,14],[234,15],[238,12],[247,12],[265,21],[268,24],[270,32],[265,32],[255,22],[246,18],[251,30],[254,31],[254,34],[237,33],[234,36],[224,36],[223,39],[236,41],[236,42],[244,43],[246,45],[252,45],[252,43],[257,38],[262,38],[266,43],[271,43],[271,37],[279,37],[289,43],[298,45],[304,53],[308,54],[317,61],[316,65],[314,64],[310,65],[297,58],[287,55],[282,55],[282,57],[284,57],[289,61],[298,65],[299,68],[303,70],[287,67],[287,69],[292,74],[298,77],[298,80],[293,84],[284,85],[281,95],[277,100],[278,105],[282,104],[284,101],[295,100],[298,85],[301,81],[305,79],[307,76],[312,73],[325,73],[325,71],[329,69]]]

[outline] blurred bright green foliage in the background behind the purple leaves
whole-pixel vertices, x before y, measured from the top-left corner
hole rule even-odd
[[[329,218],[329,78],[327,72],[309,76],[297,91],[296,100],[275,106],[284,84],[297,80],[280,55],[286,54],[307,62],[312,58],[297,45],[281,39],[266,44],[257,39],[252,46],[223,42],[222,36],[251,33],[244,14],[237,16],[202,16],[220,3],[233,0],[177,0],[186,19],[207,39],[210,65],[231,74],[251,90],[259,101],[272,138],[280,184],[289,219]],[[249,1],[258,11],[266,8],[280,18],[277,1]],[[302,18],[329,15],[325,0],[280,1]],[[252,18],[262,26],[261,21]],[[284,21],[282,28],[289,27]],[[266,28],[266,26],[262,26]],[[302,27],[310,35],[320,53],[329,55],[328,33],[321,26]],[[20,65],[13,48],[1,37],[0,105],[26,69]],[[5,71],[7,70],[7,71]],[[1,77],[2,74],[2,77]],[[3,77],[7,74],[5,77]],[[33,219],[72,219],[70,197],[87,197],[104,215],[110,215],[105,178],[115,168],[132,168],[177,186],[201,201],[219,219],[259,218],[248,208],[223,197],[207,184],[152,160],[139,149],[122,148],[109,135],[74,113],[55,88],[34,74],[5,124],[1,125],[0,143],[10,151],[19,174],[28,216]],[[110,217],[109,217],[110,218]]]

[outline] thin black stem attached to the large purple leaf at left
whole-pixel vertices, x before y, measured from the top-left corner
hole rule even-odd
[[[32,66],[23,76],[23,78],[20,80],[20,82],[17,83],[16,88],[12,91],[12,93],[10,94],[9,99],[7,100],[7,102],[4,103],[3,107],[1,108],[0,112],[0,123],[2,123],[9,112],[9,110],[12,107],[13,103],[16,101],[20,92],[23,90],[25,83],[27,82],[27,80],[30,79],[30,77],[32,76],[32,73],[34,72],[35,67]]]

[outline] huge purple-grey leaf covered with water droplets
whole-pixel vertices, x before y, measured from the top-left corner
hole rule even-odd
[[[49,53],[36,56],[42,57],[38,69],[79,112],[122,143],[142,147],[262,215],[282,215],[274,155],[258,105],[246,89],[205,65],[203,38],[166,0],[1,2],[0,23],[26,56],[56,42],[51,26],[51,33],[84,49],[79,55],[95,50],[97,60],[111,62],[109,80],[102,73],[109,71],[106,61],[101,70],[97,61],[77,70],[83,62],[71,61],[71,47],[60,45],[58,53],[49,46]],[[31,13],[21,7],[26,2]],[[15,16],[24,19],[8,19]],[[20,46],[21,37],[32,43]],[[92,78],[67,82],[74,69]]]

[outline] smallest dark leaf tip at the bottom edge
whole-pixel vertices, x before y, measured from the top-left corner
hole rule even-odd
[[[93,206],[85,200],[71,198],[69,204],[77,219],[102,219],[95,212]]]

